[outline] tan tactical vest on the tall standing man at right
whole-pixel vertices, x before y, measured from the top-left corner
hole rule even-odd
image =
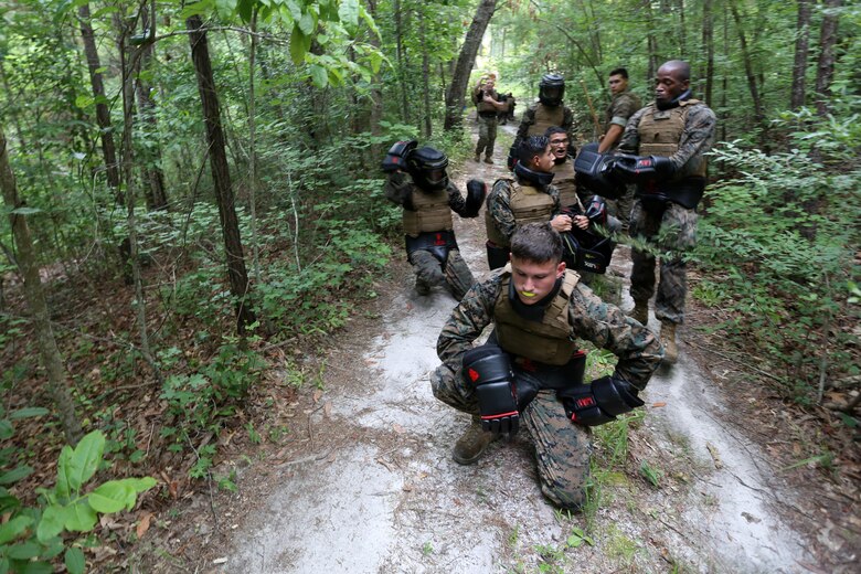
[[[687,99],[678,107],[671,109],[658,109],[650,104],[640,117],[637,131],[640,136],[640,156],[661,156],[669,158],[679,149],[684,124],[688,120],[690,107],[700,104],[699,99]],[[706,162],[702,156],[694,156],[677,171],[673,180],[680,180],[691,176],[705,177]]]

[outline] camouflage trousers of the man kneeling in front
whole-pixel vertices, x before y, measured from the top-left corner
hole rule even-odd
[[[514,369],[514,381],[524,376]],[[475,386],[468,384],[458,369],[440,364],[431,373],[434,396],[470,415],[478,415]],[[577,511],[586,500],[592,438],[588,427],[573,424],[555,391],[539,391],[520,414],[535,447],[541,491],[556,507]]]

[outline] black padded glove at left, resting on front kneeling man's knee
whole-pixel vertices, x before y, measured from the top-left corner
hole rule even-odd
[[[481,428],[514,435],[520,413],[508,353],[490,344],[470,349],[464,353],[464,376],[476,386]]]

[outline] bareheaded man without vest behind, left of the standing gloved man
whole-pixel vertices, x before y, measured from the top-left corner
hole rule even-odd
[[[628,91],[628,71],[617,67],[609,73],[607,81],[612,102],[607,106],[604,120],[604,135],[598,142],[598,153],[616,149],[628,119],[642,107],[640,98]],[[634,185],[628,185],[626,192],[616,200],[607,200],[610,214],[621,222],[621,231],[627,233],[630,222],[630,210],[634,205]]]

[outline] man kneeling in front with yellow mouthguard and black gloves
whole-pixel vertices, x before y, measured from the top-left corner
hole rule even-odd
[[[487,342],[474,346],[491,322]],[[613,375],[584,384],[578,340],[618,357]],[[431,375],[434,396],[472,415],[454,459],[477,461],[522,423],[535,445],[542,492],[570,510],[585,500],[588,427],[641,406],[638,393],[663,354],[651,331],[565,269],[562,240],[549,223],[518,228],[510,264],[466,294],[436,349],[443,364]]]

